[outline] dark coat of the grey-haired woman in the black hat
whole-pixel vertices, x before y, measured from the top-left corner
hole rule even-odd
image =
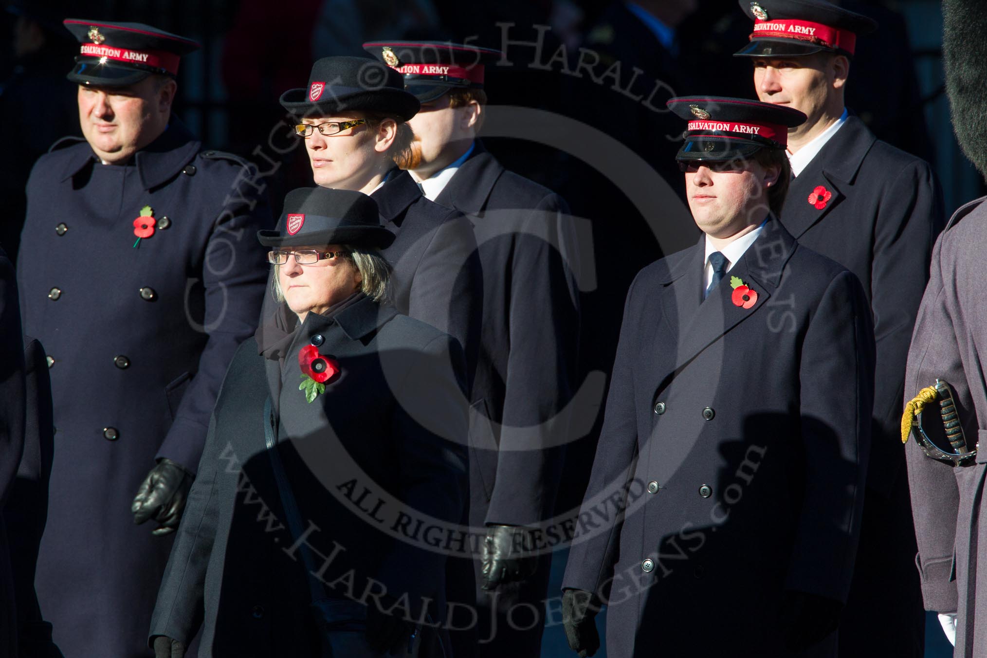
[[[329,596],[374,605],[372,578],[386,601],[406,595],[413,616],[421,597],[442,600],[445,555],[423,538],[436,522],[457,523],[466,503],[465,447],[441,438],[467,430],[461,349],[365,297],[332,318],[310,313],[289,333],[283,348],[247,340],[231,363],[162,581],[151,634],[187,642],[201,623],[199,655],[319,655],[305,569],[285,551],[297,538],[266,455],[267,396],[302,524],[318,528],[304,541]],[[341,369],[311,403],[298,390],[308,345]],[[425,530],[420,519],[431,520]],[[441,622],[440,607],[426,625]]]

